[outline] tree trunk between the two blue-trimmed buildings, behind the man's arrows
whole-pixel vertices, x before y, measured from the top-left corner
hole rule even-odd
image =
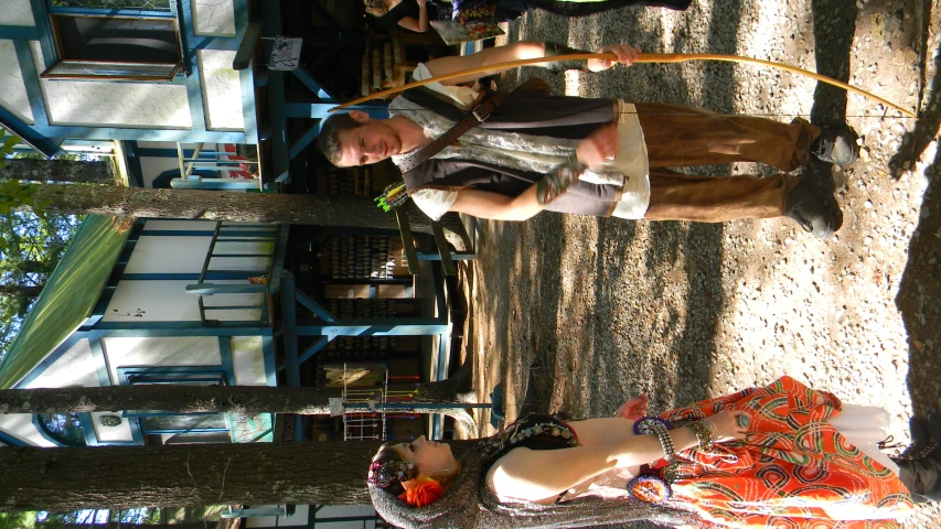
[[[33,198],[45,213],[114,215],[117,217],[186,218],[244,223],[309,224],[398,229],[395,215],[375,206],[367,196],[270,195],[228,191],[145,190],[101,185],[35,185]],[[431,220],[408,204],[413,231],[431,233]],[[20,210],[32,210],[19,206]],[[456,231],[455,215],[441,225]],[[463,249],[456,235],[448,240]]]

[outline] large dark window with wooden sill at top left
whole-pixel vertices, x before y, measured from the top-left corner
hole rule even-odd
[[[183,64],[170,0],[51,0],[58,61],[43,78],[171,80]]]

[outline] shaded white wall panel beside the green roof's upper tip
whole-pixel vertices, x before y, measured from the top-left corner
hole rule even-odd
[[[210,244],[212,237],[141,236],[125,273],[200,273]]]

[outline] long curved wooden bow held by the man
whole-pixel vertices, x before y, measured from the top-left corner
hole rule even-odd
[[[515,68],[517,66],[526,66],[528,64],[539,64],[539,63],[553,63],[556,61],[578,61],[586,58],[600,58],[600,60],[609,60],[616,61],[618,57],[613,53],[574,53],[570,55],[556,55],[554,57],[536,57],[536,58],[523,58],[520,61],[510,61],[505,63],[495,63],[488,64],[485,66],[480,66],[475,68],[462,69],[460,72],[452,72],[450,74],[438,75],[435,77],[430,77],[425,80],[416,80],[413,83],[408,83],[396,88],[389,88],[386,90],[377,91],[375,94],[370,94],[368,96],[364,96],[357,99],[353,99],[352,101],[344,102],[338,107],[333,107],[330,111],[342,110],[344,108],[349,108],[355,105],[361,105],[363,102],[370,101],[372,99],[377,99],[386,96],[391,96],[393,94],[398,94],[399,91],[405,91],[409,88],[415,88],[416,86],[424,86],[435,82],[453,79],[456,77],[462,77],[466,75],[474,75],[482,74],[492,69],[509,69]],[[634,64],[638,63],[683,63],[686,61],[724,61],[729,63],[747,63],[747,64],[758,64],[762,66],[770,66],[772,68],[783,69],[785,72],[791,72],[799,75],[804,75],[808,77],[812,77],[821,83],[826,83],[827,85],[833,85],[844,90],[852,91],[854,94],[859,94],[860,96],[868,97],[870,99],[875,99],[887,107],[891,107],[902,115],[917,118],[917,116],[888,99],[881,98],[875,94],[870,94],[860,88],[856,88],[853,85],[843,83],[842,80],[836,80],[832,77],[827,77],[825,75],[817,74],[816,72],[809,72],[806,69],[799,68],[796,66],[790,66],[787,64],[776,63],[773,61],[764,61],[761,58],[751,58],[751,57],[739,57],[737,55],[721,55],[717,53],[642,53],[640,56],[634,60]]]

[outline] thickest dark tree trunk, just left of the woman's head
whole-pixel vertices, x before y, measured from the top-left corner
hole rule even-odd
[[[450,443],[455,455],[480,441]],[[0,449],[0,510],[368,504],[378,441]]]

